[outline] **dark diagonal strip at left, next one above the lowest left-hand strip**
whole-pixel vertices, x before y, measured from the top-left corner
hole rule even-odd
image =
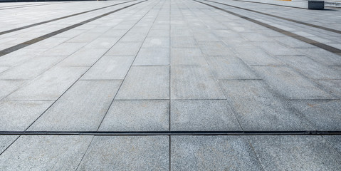
[[[136,0],[132,0],[132,1],[136,1]],[[125,3],[128,3],[128,2],[132,2],[132,1],[126,1],[126,2],[119,3],[119,4],[113,4],[113,5],[110,5],[110,6],[104,6],[104,7],[98,8],[98,9],[92,9],[92,10],[89,10],[89,11],[83,11],[83,12],[80,12],[80,13],[77,13],[77,14],[72,14],[72,15],[69,15],[69,16],[62,16],[62,17],[59,17],[57,19],[51,19],[51,20],[48,20],[48,21],[42,21],[42,22],[39,22],[39,23],[36,23],[36,24],[30,24],[30,25],[27,25],[27,26],[22,26],[22,27],[19,27],[19,28],[14,28],[14,29],[7,30],[7,31],[1,31],[0,35],[6,34],[6,33],[11,33],[11,32],[14,32],[14,31],[19,31],[19,30],[22,30],[22,29],[25,29],[25,28],[30,28],[30,27],[33,27],[33,26],[39,26],[41,24],[47,24],[47,23],[50,23],[52,21],[58,21],[58,20],[61,20],[61,19],[66,19],[66,18],[69,18],[71,16],[78,16],[80,14],[86,14],[86,13],[89,13],[89,12],[92,12],[92,11],[97,11],[97,10],[100,10],[100,9],[106,9],[106,8],[111,7],[111,6],[117,6],[117,5],[120,5],[120,4],[125,4]]]

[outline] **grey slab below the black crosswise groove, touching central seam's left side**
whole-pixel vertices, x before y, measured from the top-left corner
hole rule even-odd
[[[78,170],[169,170],[169,138],[95,137]]]

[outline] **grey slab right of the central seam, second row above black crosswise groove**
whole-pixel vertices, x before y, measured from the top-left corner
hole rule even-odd
[[[172,99],[226,99],[207,66],[172,66]]]

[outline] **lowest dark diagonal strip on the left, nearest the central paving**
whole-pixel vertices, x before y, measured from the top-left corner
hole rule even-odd
[[[59,33],[63,33],[63,32],[65,32],[65,31],[68,31],[68,30],[70,30],[70,29],[76,28],[76,27],[78,27],[78,26],[82,26],[83,24],[88,24],[88,23],[91,22],[91,21],[95,21],[95,20],[100,19],[100,18],[102,18],[102,17],[104,17],[104,16],[113,14],[113,13],[115,13],[115,12],[117,12],[117,11],[121,11],[122,9],[127,9],[127,8],[130,7],[130,6],[134,6],[134,5],[136,5],[136,4],[140,4],[140,3],[142,3],[142,2],[144,2],[144,1],[140,1],[140,2],[137,2],[137,3],[135,3],[135,4],[131,4],[131,5],[129,5],[129,6],[122,7],[122,8],[120,8],[120,9],[115,9],[114,11],[107,12],[107,13],[102,14],[102,15],[100,15],[100,16],[95,16],[95,17],[93,17],[93,18],[91,18],[91,19],[88,19],[88,20],[85,20],[85,21],[81,21],[81,22],[78,23],[78,24],[73,24],[73,25],[71,25],[71,26],[68,26],[68,27],[65,27],[65,28],[61,28],[61,29],[59,29],[58,31],[53,31],[53,32],[51,32],[51,33],[47,33],[46,35],[40,36],[40,37],[38,37],[38,38],[33,38],[33,39],[29,40],[29,41],[25,41],[25,42],[23,42],[23,43],[20,43],[20,44],[15,45],[15,46],[11,46],[10,48],[6,48],[6,49],[0,51],[0,57],[6,55],[6,54],[8,54],[8,53],[17,51],[17,50],[19,50],[19,49],[21,49],[21,48],[24,48],[24,47],[26,47],[26,46],[30,46],[30,45],[32,45],[33,43],[37,43],[37,42],[39,42],[39,41],[43,41],[43,40],[45,40],[46,38],[50,38],[50,37],[52,37],[52,36],[56,36],[56,35],[59,34]]]

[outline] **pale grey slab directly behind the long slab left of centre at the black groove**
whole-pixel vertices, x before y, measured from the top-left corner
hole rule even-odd
[[[123,80],[135,56],[103,56],[81,80]]]

